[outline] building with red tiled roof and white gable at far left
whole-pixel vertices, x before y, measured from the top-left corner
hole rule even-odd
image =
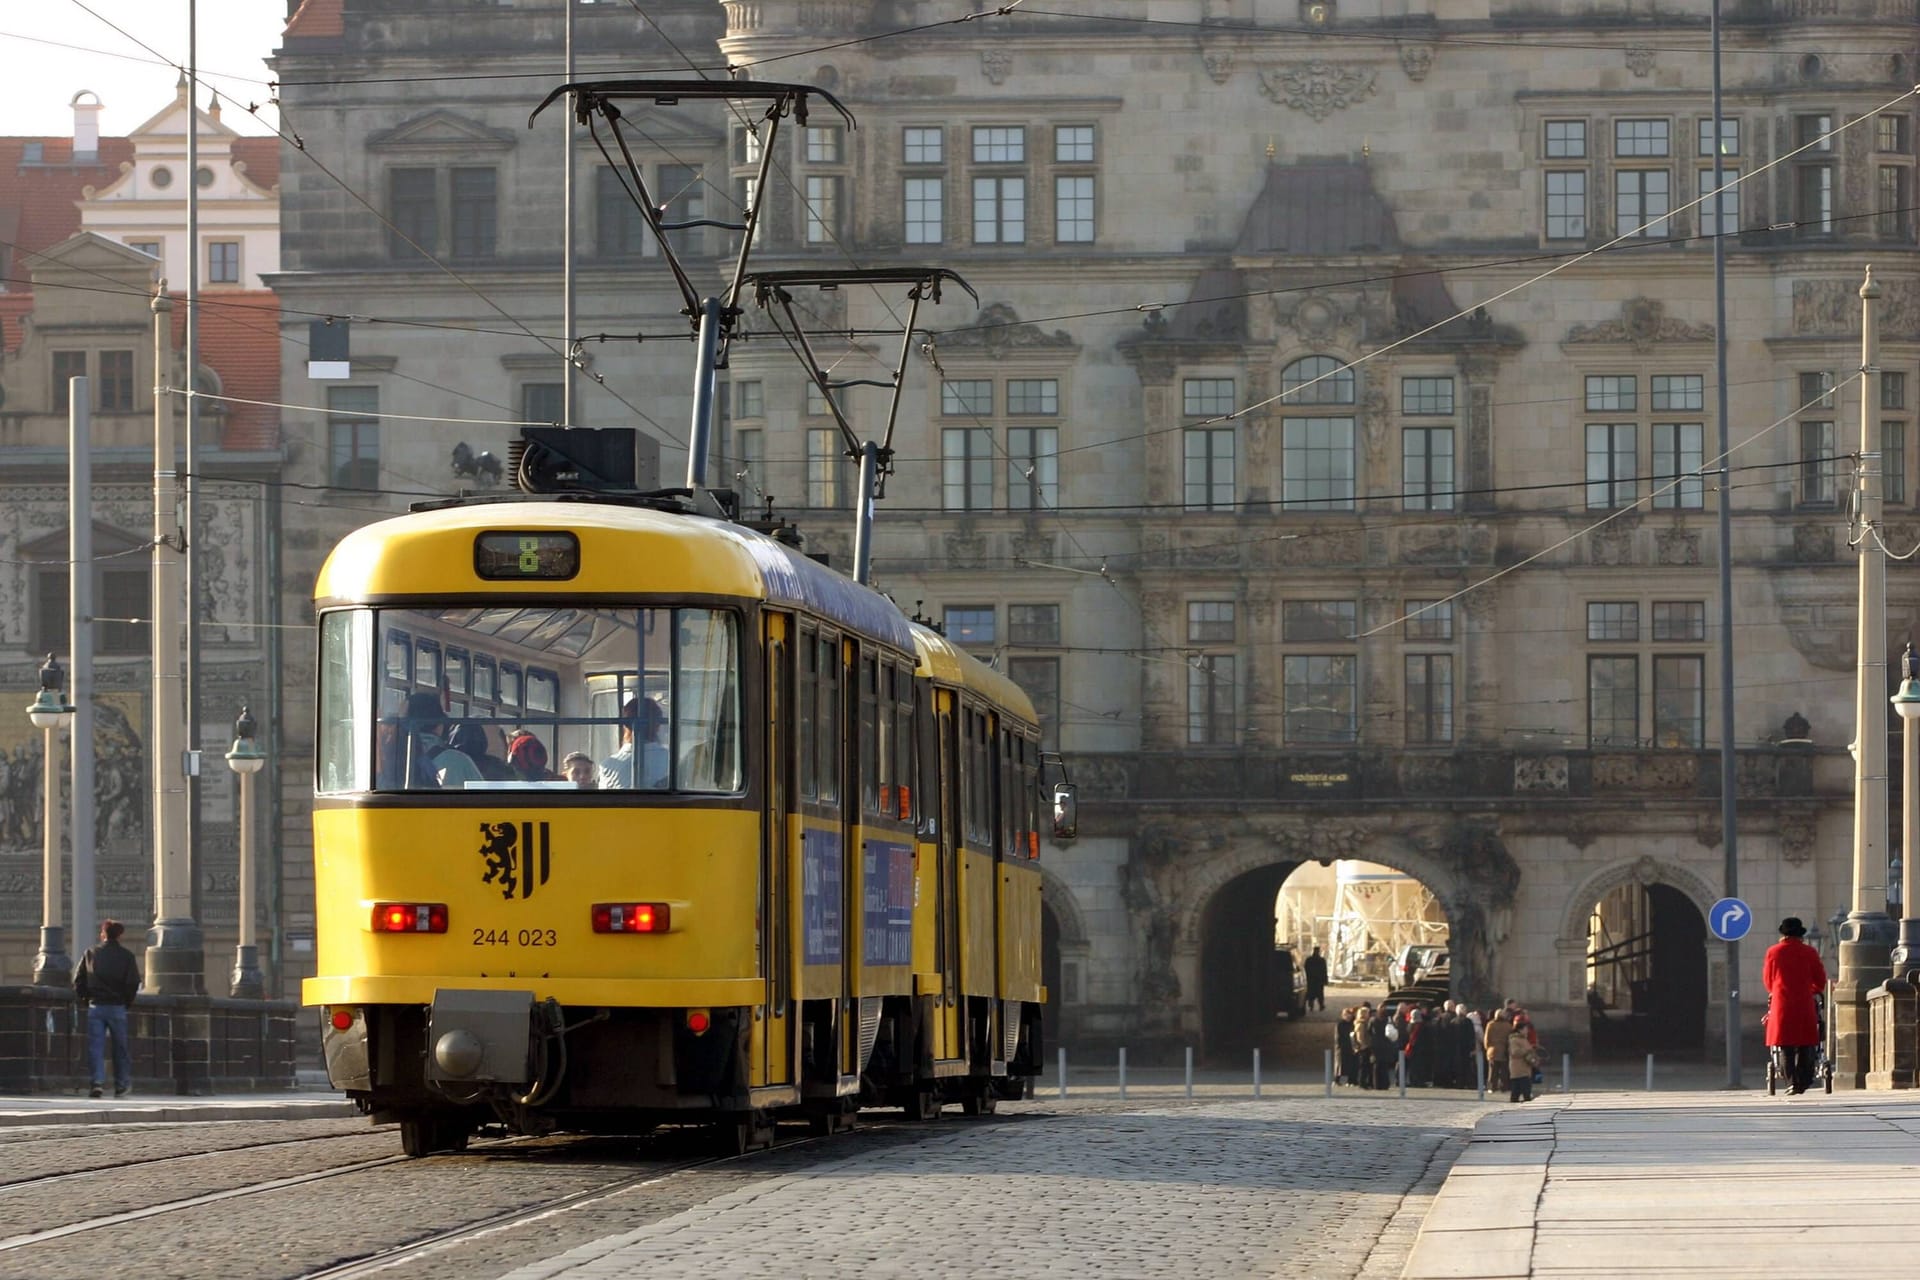
[[[154,912],[150,837],[152,768],[152,616],[150,547],[154,528],[156,384],[184,388],[184,299],[165,334],[163,367],[154,361],[152,297],[161,253],[142,236],[161,234],[175,213],[115,203],[102,230],[90,219],[96,196],[125,186],[152,163],[150,132],[165,134],[161,113],[134,138],[100,138],[96,104],[83,94],[71,138],[0,138],[0,983],[27,983],[40,925],[42,739],[25,706],[46,652],[69,654],[67,472],[69,384],[92,390],[92,541],[94,564],[94,808],[98,908],[144,938]],[[184,96],[175,104],[184,115]],[[275,178],[278,155],[240,146],[209,113],[205,161],[219,190],[250,171]],[[177,121],[179,125],[179,121]],[[217,146],[213,142],[217,140]],[[257,140],[248,140],[257,142]],[[184,148],[182,148],[184,150]],[[271,196],[267,198],[269,203]],[[167,203],[165,200],[154,203]],[[175,201],[184,219],[184,201]],[[83,217],[88,219],[83,228]],[[219,219],[205,230],[219,234]],[[144,230],[142,230],[144,228]],[[179,232],[184,246],[184,221]],[[269,228],[269,240],[276,232]],[[180,251],[184,265],[184,249]],[[180,280],[173,280],[179,286]],[[244,284],[244,282],[238,282]],[[221,290],[200,324],[202,495],[196,541],[204,580],[202,610],[202,842],[198,913],[205,925],[207,988],[225,994],[238,933],[238,798],[221,762],[232,720],[252,704],[269,725],[280,710],[275,677],[282,631],[273,626],[278,580],[280,334],[278,305],[259,288]],[[242,403],[252,401],[252,403]],[[177,422],[184,413],[175,409]],[[180,428],[177,428],[180,430]],[[184,461],[182,461],[184,464]],[[175,712],[177,714],[177,712]],[[61,739],[58,766],[69,770]],[[69,773],[71,777],[71,773]],[[71,787],[69,787],[71,791]],[[63,798],[63,829],[73,798]],[[267,804],[261,806],[269,808]],[[275,812],[261,819],[265,837]],[[301,823],[305,810],[301,810]],[[63,844],[71,850],[69,837]],[[271,848],[263,839],[263,848]],[[255,910],[276,917],[280,875],[263,854],[265,896]],[[71,864],[63,869],[71,889]],[[71,890],[63,894],[71,910]],[[69,927],[84,944],[92,923]],[[267,936],[273,936],[271,933]],[[269,956],[276,958],[276,956]]]

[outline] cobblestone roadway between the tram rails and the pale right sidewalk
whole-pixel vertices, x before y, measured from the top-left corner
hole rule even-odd
[[[1398,1276],[1484,1111],[1432,1096],[1041,1098],[670,1217],[620,1196],[603,1238],[509,1274]]]

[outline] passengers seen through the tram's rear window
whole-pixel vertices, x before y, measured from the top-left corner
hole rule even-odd
[[[641,787],[666,785],[666,714],[653,699],[626,700],[620,710],[620,747],[605,762],[595,764],[584,750],[572,750],[561,760],[559,773],[547,768],[547,745],[534,731],[515,729],[505,741],[505,752],[493,754],[497,731],[478,720],[451,720],[434,693],[409,695],[405,722],[405,764],[396,750],[396,760],[382,770],[386,787],[399,785],[405,777],[409,791],[461,791],[478,781],[568,781],[580,791],[628,791],[636,785],[636,756]]]

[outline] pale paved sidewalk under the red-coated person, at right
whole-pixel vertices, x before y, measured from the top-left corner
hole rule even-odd
[[[1548,1096],[1488,1115],[1407,1280],[1907,1276],[1920,1096]]]

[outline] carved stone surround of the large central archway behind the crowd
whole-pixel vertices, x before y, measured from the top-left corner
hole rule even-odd
[[[1246,933],[1248,913],[1271,925],[1273,890],[1302,862],[1357,858],[1419,879],[1452,927],[1453,990],[1480,1000],[1496,988],[1496,954],[1507,936],[1519,867],[1492,823],[1461,819],[1404,825],[1392,819],[1146,821],[1125,865],[1125,902],[1137,950],[1140,1031],[1148,1036],[1225,1038],[1204,1011],[1233,1017],[1233,1000],[1208,1000],[1208,929]],[[1252,906],[1248,906],[1248,902]],[[1229,958],[1231,961],[1231,958]],[[1215,956],[1215,965],[1223,967]],[[1225,969],[1231,973],[1231,969]],[[1215,983],[1231,981],[1217,975]]]

